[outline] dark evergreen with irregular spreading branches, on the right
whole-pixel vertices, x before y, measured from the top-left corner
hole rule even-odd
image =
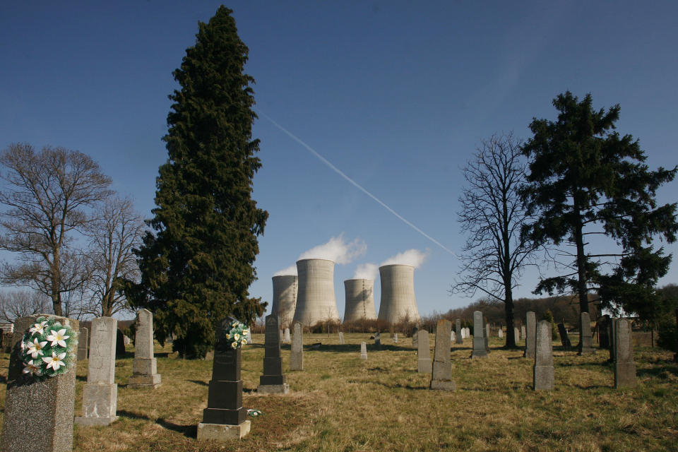
[[[638,141],[614,131],[619,105],[595,111],[590,95],[579,102],[569,91],[553,105],[557,121],[534,119],[534,136],[523,146],[530,174],[522,196],[537,215],[523,232],[572,251],[561,248],[566,274],[540,280],[535,293],[570,290],[582,312],[588,312],[590,291],[597,291],[603,307],[647,302],[671,261],[652,240],[674,242],[678,230],[676,203],[657,206],[655,193],[677,168],[648,169]],[[588,240],[595,234],[616,247],[592,251]]]

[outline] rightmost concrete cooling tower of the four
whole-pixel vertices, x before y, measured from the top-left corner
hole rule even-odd
[[[405,319],[420,321],[415,298],[415,268],[406,265],[379,267],[381,304],[379,320],[398,323]]]

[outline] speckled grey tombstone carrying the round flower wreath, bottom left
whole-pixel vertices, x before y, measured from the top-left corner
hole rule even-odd
[[[20,355],[20,344],[23,334],[37,323],[39,317],[57,320],[71,327],[75,335],[78,334],[78,321],[66,317],[35,314],[20,317],[14,322],[0,439],[0,451],[3,452],[73,450],[77,350],[73,350],[75,359],[64,374],[38,381],[23,372],[25,367]]]

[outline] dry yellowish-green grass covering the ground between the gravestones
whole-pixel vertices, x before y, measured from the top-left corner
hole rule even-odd
[[[489,359],[470,359],[470,340],[453,345],[454,392],[429,391],[417,374],[411,339],[383,335],[381,350],[367,334],[305,335],[304,371],[285,371],[291,393],[258,396],[263,335],[244,348],[244,406],[263,412],[244,439],[198,443],[196,426],[207,404],[211,361],[168,357],[156,348],[162,386],[124,385],[133,354],[116,364],[118,422],[76,425],[74,450],[90,451],[677,451],[678,365],[659,349],[636,350],[638,388],[615,390],[607,351],[578,357],[554,343],[556,388],[532,390],[533,362],[490,341]],[[431,346],[433,349],[433,335]],[[131,350],[131,349],[129,349]],[[289,345],[283,345],[283,369]],[[6,378],[8,355],[1,355]],[[78,363],[76,415],[81,415],[86,362]],[[4,391],[0,403],[4,407]]]

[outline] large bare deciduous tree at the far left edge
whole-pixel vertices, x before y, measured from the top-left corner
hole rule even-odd
[[[1,280],[42,292],[54,314],[63,315],[62,294],[89,276],[76,237],[90,220],[88,209],[111,193],[111,181],[88,155],[64,148],[36,153],[31,145],[12,144],[0,164],[0,249],[18,254],[18,263],[1,269]]]

